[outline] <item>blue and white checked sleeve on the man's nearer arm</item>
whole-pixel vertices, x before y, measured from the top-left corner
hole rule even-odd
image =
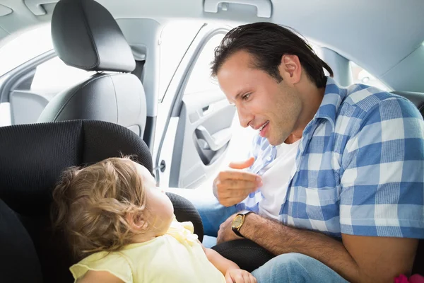
[[[358,123],[341,158],[341,233],[424,238],[424,122],[403,98]]]

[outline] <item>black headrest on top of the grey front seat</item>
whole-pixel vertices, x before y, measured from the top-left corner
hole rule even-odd
[[[128,42],[113,16],[93,0],[61,0],[53,11],[54,50],[67,65],[90,71],[134,71]]]

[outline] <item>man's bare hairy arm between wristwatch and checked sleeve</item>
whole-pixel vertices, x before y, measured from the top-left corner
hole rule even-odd
[[[418,246],[417,239],[347,234],[342,234],[341,243],[252,213],[240,233],[275,255],[302,253],[315,258],[349,282],[393,282],[400,274],[409,274]]]

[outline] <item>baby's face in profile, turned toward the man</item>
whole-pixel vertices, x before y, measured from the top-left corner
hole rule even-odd
[[[156,216],[157,225],[163,233],[169,228],[172,219],[174,218],[174,207],[169,197],[165,192],[156,187],[156,182],[151,173],[139,163],[135,163],[137,171],[143,178],[144,187],[146,190],[147,206],[149,213]]]

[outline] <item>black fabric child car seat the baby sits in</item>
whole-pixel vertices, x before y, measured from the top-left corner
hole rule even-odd
[[[69,166],[134,155],[152,172],[151,154],[134,132],[110,122],[73,120],[0,128],[0,282],[73,282],[75,262],[49,219],[52,188]],[[192,221],[203,238],[193,205],[168,194],[179,221]],[[25,228],[24,228],[25,227]],[[16,274],[18,272],[19,274]]]

